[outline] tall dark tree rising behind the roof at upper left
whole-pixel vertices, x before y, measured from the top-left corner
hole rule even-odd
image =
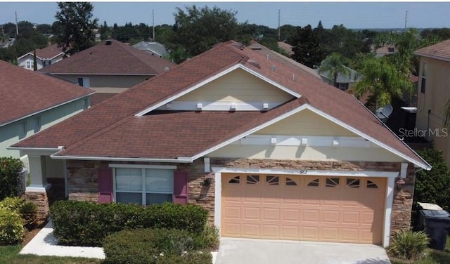
[[[93,18],[94,6],[88,2],[58,2],[55,18],[63,28],[58,36],[58,46],[68,55],[94,46],[94,29],[97,18]]]

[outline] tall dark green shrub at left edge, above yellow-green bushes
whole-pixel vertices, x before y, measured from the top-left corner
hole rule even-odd
[[[0,200],[15,197],[22,192],[19,177],[22,168],[20,159],[0,157]]]

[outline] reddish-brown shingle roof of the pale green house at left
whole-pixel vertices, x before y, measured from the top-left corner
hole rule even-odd
[[[94,93],[0,60],[0,126]]]

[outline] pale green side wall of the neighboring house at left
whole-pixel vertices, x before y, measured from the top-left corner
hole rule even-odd
[[[87,98],[86,98],[87,99]],[[89,102],[88,102],[89,103]],[[60,107],[35,114],[26,119],[15,121],[14,123],[0,127],[0,157],[15,157],[19,158],[20,153],[18,150],[6,150],[9,147],[17,143],[20,139],[20,133],[23,129],[24,122],[26,123],[27,133],[26,136],[32,136],[34,134],[34,128],[36,127],[37,117],[41,118],[41,130],[53,126],[60,121],[77,114],[84,110],[85,98],[76,100],[72,103],[61,105]]]

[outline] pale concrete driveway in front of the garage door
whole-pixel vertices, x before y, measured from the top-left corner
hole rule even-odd
[[[385,249],[366,244],[220,239],[215,264],[390,264]]]

